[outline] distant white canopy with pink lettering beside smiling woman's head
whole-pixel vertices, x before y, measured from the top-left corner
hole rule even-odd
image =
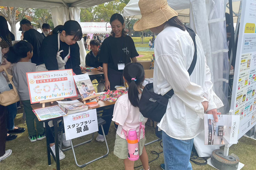
[[[109,34],[111,29],[110,23],[80,23],[83,34]],[[106,30],[106,27],[108,30]]]

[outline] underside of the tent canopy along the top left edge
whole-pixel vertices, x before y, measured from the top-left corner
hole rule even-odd
[[[112,0],[0,0],[0,6],[20,8],[77,7],[89,8]]]

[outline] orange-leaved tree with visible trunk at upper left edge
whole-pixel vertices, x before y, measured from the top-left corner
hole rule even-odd
[[[11,26],[11,32],[16,38],[16,24],[29,12],[29,8],[0,6],[0,14],[6,18]],[[27,15],[29,17],[29,15]]]

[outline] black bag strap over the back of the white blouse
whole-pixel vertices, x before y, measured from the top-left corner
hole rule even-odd
[[[193,60],[191,62],[191,65],[188,69],[189,72],[189,76],[192,74],[192,72],[195,69],[195,64],[197,61],[197,47],[196,47],[196,42],[195,42],[195,32],[192,30],[192,28],[190,28],[189,26],[184,25],[186,30],[189,32],[190,37],[192,38],[193,42],[194,42],[194,47],[195,47],[195,52],[194,52],[194,57]],[[171,89],[170,91],[168,91],[165,95],[163,95],[165,98],[170,99],[172,96],[174,95],[174,91],[173,89]]]

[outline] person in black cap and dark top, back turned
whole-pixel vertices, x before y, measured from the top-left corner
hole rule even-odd
[[[23,40],[26,40],[33,46],[33,57],[31,59],[32,63],[36,65],[43,64],[44,61],[40,57],[40,47],[44,40],[44,36],[38,32],[37,30],[33,29],[31,26],[31,22],[29,20],[21,20],[20,21],[20,29],[19,31],[24,31]]]

